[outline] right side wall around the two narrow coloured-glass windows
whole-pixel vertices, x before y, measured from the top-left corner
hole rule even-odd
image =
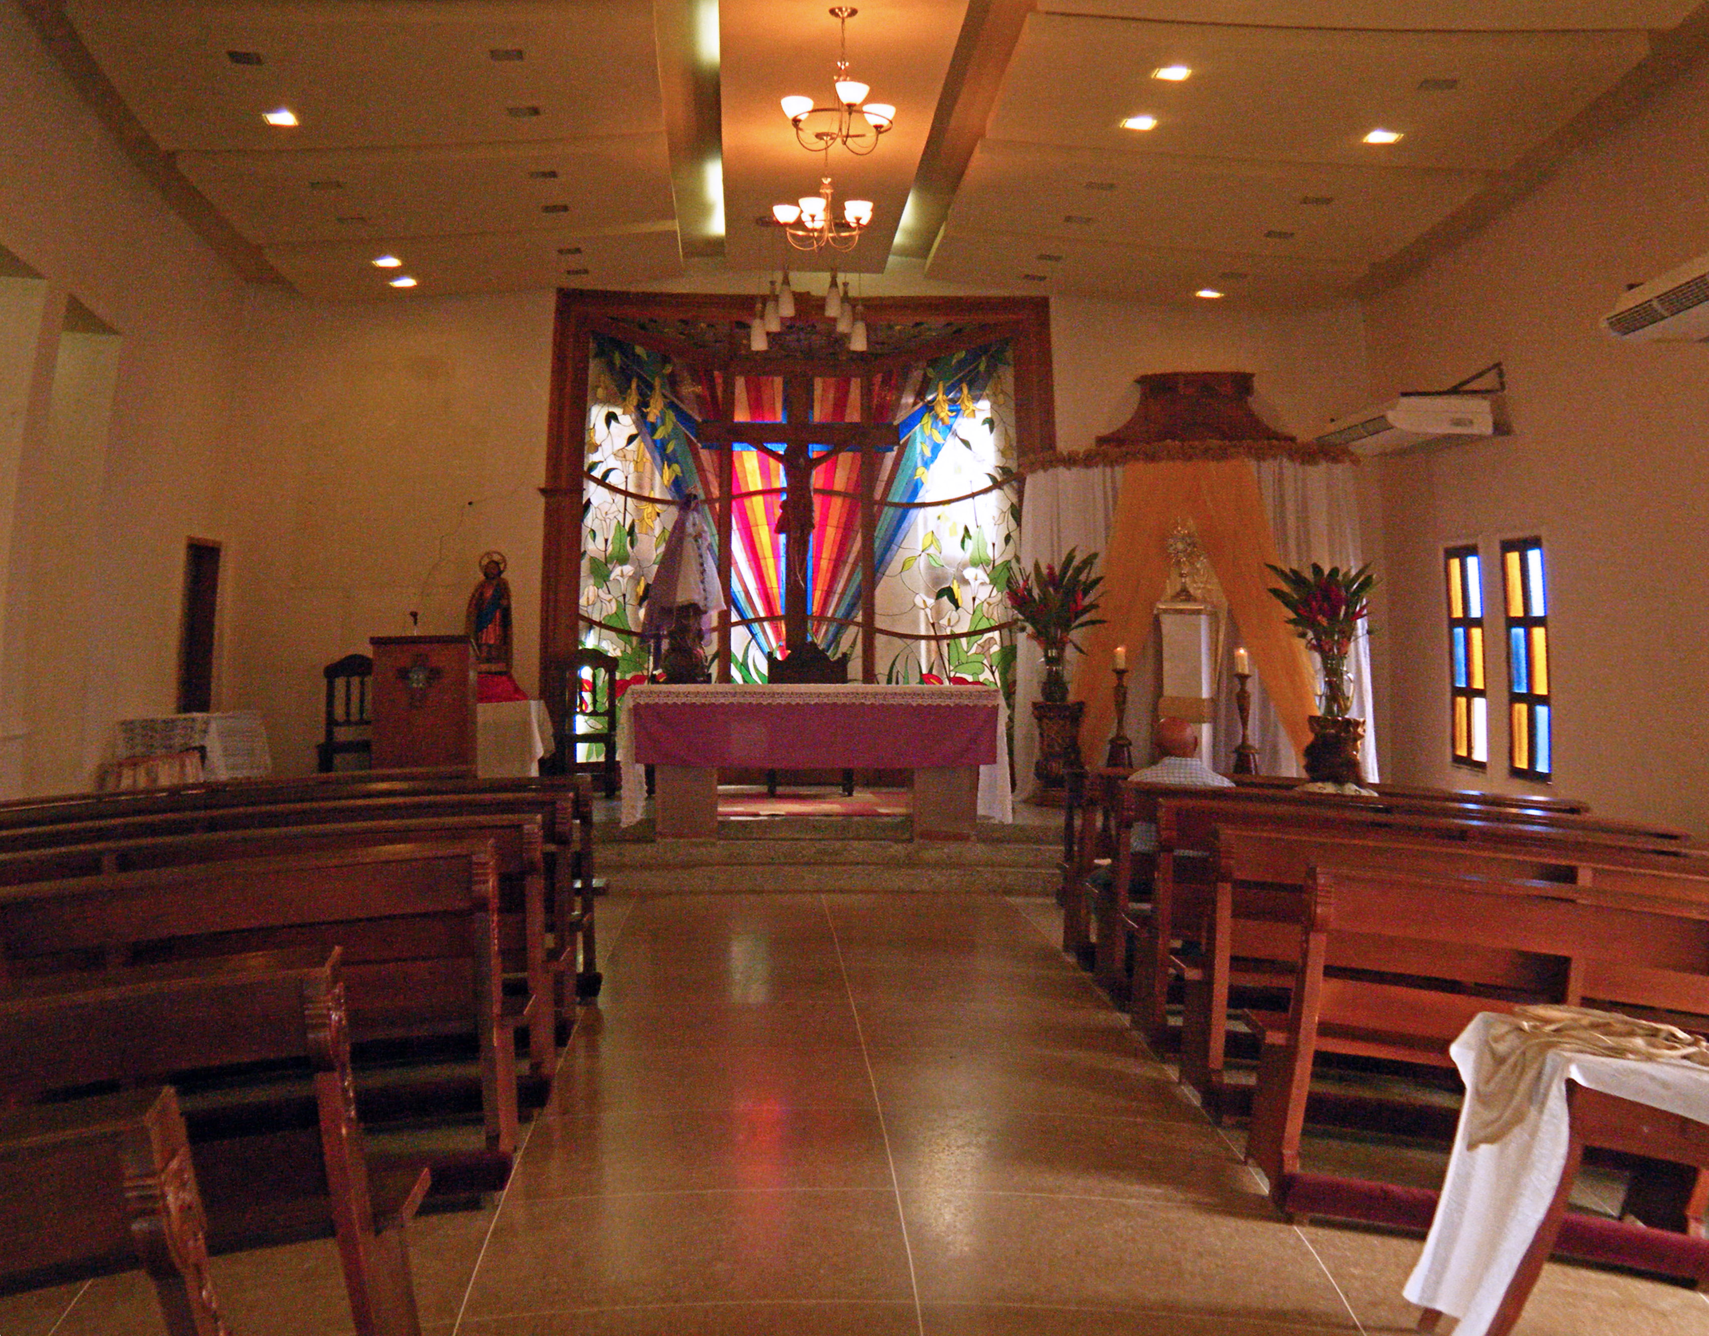
[[[1630,345],[1598,318],[1624,287],[1709,251],[1709,72],[1699,70],[1547,186],[1365,308],[1381,393],[1441,388],[1501,359],[1514,436],[1377,465],[1386,608],[1374,641],[1396,781],[1485,786],[1448,762],[1442,547],[1480,543],[1507,678],[1499,542],[1542,535],[1552,577],[1553,789],[1709,830],[1709,347]],[[1492,692],[1489,788],[1506,777]]]

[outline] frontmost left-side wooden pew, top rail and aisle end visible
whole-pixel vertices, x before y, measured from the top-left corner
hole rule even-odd
[[[482,782],[485,784],[485,781]],[[325,788],[340,791],[337,796],[318,801],[299,801],[292,796],[292,801],[253,806],[186,806],[176,812],[132,812],[121,817],[14,827],[0,830],[0,854],[56,849],[65,844],[135,841],[215,830],[475,815],[538,815],[543,827],[542,853],[547,859],[547,926],[557,938],[561,953],[571,938],[576,938],[579,945],[576,996],[584,999],[598,996],[600,972],[593,897],[598,894],[600,883],[593,870],[591,800],[586,800],[584,786],[566,789],[562,784],[543,788],[514,781],[511,788],[499,788],[494,782],[480,791],[427,788],[403,793],[393,791],[398,786],[390,784],[386,793],[364,796],[345,793],[342,786]]]

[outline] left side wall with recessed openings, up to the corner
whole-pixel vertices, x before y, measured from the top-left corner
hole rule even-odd
[[[243,285],[132,167],[15,3],[0,3],[0,248],[26,275],[0,280],[10,794],[87,784],[115,719],[176,704],[185,538],[224,530],[215,480],[243,390]],[[80,319],[62,345],[72,297],[116,350]],[[44,497],[77,511],[72,530],[38,513]]]

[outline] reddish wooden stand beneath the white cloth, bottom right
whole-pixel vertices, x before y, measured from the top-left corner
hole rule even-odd
[[[1531,1297],[1543,1263],[1555,1251],[1560,1227],[1567,1218],[1567,1198],[1579,1174],[1586,1146],[1625,1151],[1627,1155],[1653,1155],[1682,1165],[1692,1165],[1700,1174],[1709,1172],[1709,1124],[1678,1114],[1668,1114],[1647,1104],[1606,1095],[1577,1081],[1567,1081],[1567,1162],[1560,1169],[1560,1182],[1548,1203],[1548,1213],[1531,1235],[1531,1244],[1519,1259],[1519,1269],[1507,1281],[1501,1307],[1483,1329],[1485,1336],[1509,1336]],[[1709,1263],[1694,1276],[1697,1288],[1709,1285]],[[1418,1331],[1436,1331],[1442,1314],[1425,1309]]]

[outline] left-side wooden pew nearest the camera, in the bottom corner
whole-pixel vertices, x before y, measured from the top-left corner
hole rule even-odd
[[[229,1336],[173,1092],[0,1114],[0,1290],[137,1266],[167,1336]]]

